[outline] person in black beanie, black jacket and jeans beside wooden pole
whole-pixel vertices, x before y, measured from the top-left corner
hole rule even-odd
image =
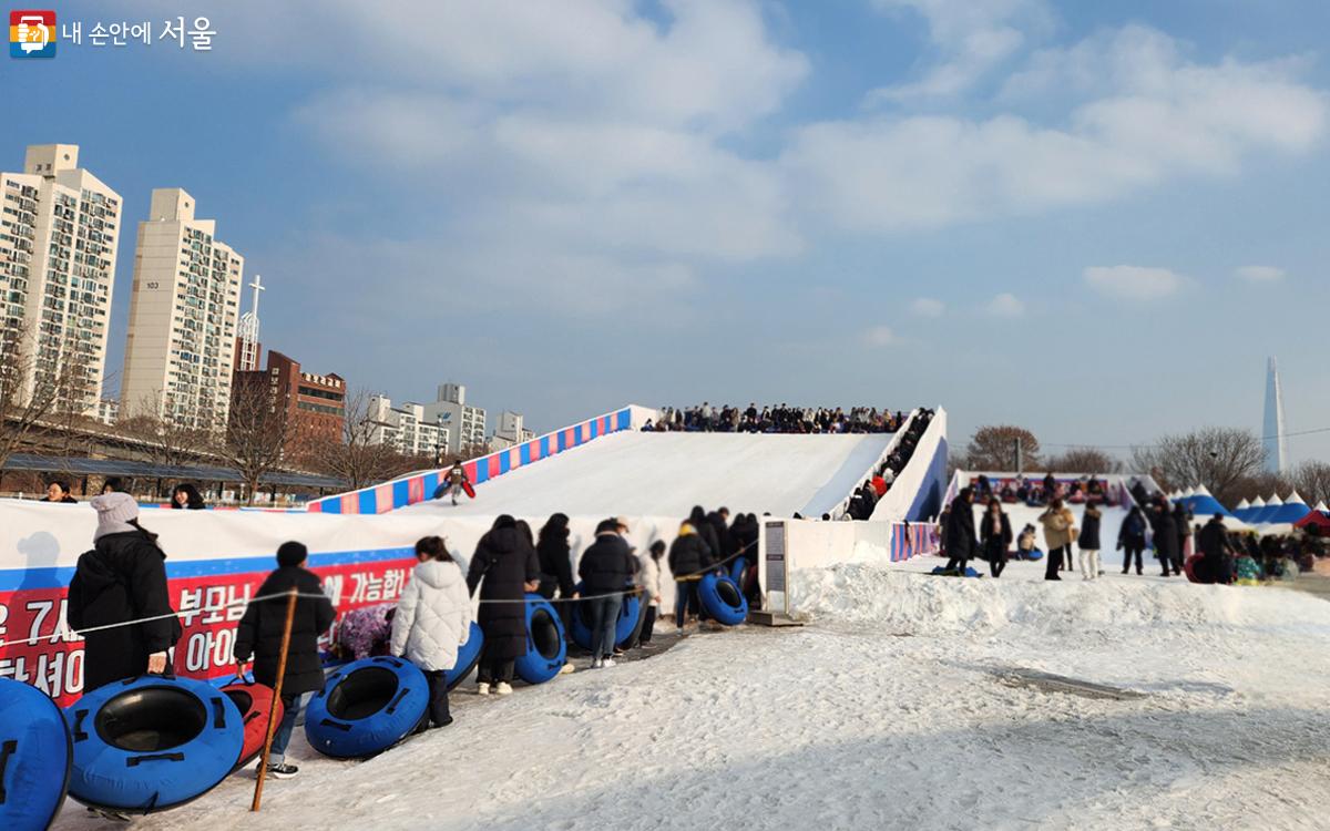
[[[303,542],[282,542],[277,549],[277,570],[267,576],[235,628],[237,671],[254,658],[254,681],[277,683],[277,662],[282,655],[282,633],[286,629],[286,597],[293,588],[301,593],[291,621],[291,644],[282,675],[282,722],[273,734],[267,775],[290,779],[299,769],[286,763],[286,746],[291,742],[295,719],[309,699],[323,689],[323,663],[319,661],[319,636],[332,625],[332,601],[323,594],[318,574],[305,568],[309,549]],[[273,597],[277,596],[277,597]],[[262,765],[262,761],[259,762]]]

